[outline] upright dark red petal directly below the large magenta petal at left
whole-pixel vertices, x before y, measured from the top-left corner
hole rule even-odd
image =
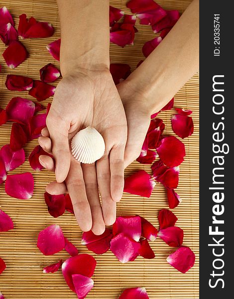
[[[20,124],[13,123],[10,132],[10,148],[13,151],[22,149],[27,142],[27,136]]]

